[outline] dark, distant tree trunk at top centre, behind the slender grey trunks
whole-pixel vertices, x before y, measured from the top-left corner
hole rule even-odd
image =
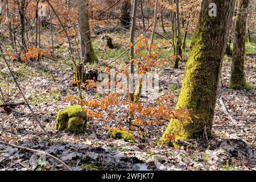
[[[125,28],[130,27],[130,0],[123,0],[121,7],[121,25]]]

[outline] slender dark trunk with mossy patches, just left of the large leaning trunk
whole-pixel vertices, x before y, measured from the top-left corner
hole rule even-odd
[[[180,36],[180,17],[179,17],[179,0],[176,0],[176,43],[175,43],[175,65],[174,68],[179,68],[179,60],[182,56],[181,36]]]

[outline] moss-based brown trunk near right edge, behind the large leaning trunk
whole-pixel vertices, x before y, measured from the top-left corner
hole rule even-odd
[[[234,29],[234,48],[231,65],[230,88],[232,89],[252,89],[245,79],[244,60],[246,42],[246,18],[247,14],[242,13],[249,6],[249,0],[238,0],[237,18]]]

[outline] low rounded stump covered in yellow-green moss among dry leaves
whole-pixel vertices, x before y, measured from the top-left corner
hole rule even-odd
[[[67,106],[64,110],[60,110],[55,129],[59,131],[68,131],[75,134],[85,133],[87,114],[82,112],[80,105]]]

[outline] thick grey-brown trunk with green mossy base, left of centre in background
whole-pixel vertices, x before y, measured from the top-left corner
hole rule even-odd
[[[98,59],[93,51],[90,38],[88,0],[77,0],[77,7],[82,61],[83,63],[97,63]]]

